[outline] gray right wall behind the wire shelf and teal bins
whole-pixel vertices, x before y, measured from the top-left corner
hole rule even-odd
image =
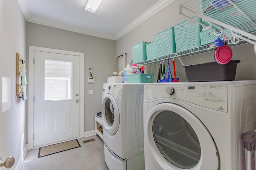
[[[166,6],[160,12],[144,21],[132,31],[121,37],[116,41],[116,55],[127,52],[127,62],[132,61],[132,45],[141,41],[154,41],[154,35],[170,28],[182,21],[187,20],[184,16],[179,15],[178,6],[182,4],[184,0],[176,0],[170,5]],[[256,79],[256,57],[253,49],[253,45],[239,45],[232,47],[233,58],[232,60],[239,59],[241,63],[237,65],[236,79],[235,80],[255,80]],[[213,51],[203,53],[200,55],[192,55],[189,57],[183,57],[182,61],[185,65],[198,64],[204,62],[214,61]],[[148,64],[146,65],[146,73],[154,74],[154,82],[157,81],[159,64]],[[165,62],[165,64],[167,64]],[[172,69],[172,68],[171,68]],[[176,76],[180,78],[180,81],[187,81],[185,70],[180,63],[176,60]]]

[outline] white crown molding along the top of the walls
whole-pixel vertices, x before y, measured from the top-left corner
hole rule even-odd
[[[28,22],[37,23],[37,24],[41,24],[41,25],[46,25],[46,26],[54,27],[54,28],[58,28],[58,29],[64,29],[64,30],[72,31],[72,32],[76,32],[76,33],[91,35],[91,36],[95,36],[95,37],[106,38],[106,39],[111,39],[111,40],[118,40],[120,37],[124,36],[126,33],[131,31],[132,29],[134,29],[138,25],[140,25],[142,22],[146,21],[148,18],[150,18],[151,16],[153,16],[154,14],[156,14],[157,12],[162,10],[164,7],[166,7],[170,3],[174,2],[174,0],[160,0],[157,4],[152,6],[152,8],[150,8],[149,10],[144,12],[144,14],[142,14],[140,17],[138,17],[136,20],[134,20],[132,23],[130,23],[127,27],[125,27],[123,30],[121,30],[119,33],[117,33],[114,36],[106,35],[106,34],[103,34],[103,33],[99,33],[99,32],[84,29],[84,28],[74,27],[74,26],[71,26],[71,25],[66,25],[66,24],[63,24],[63,23],[57,23],[57,22],[53,22],[53,21],[42,20],[42,19],[39,19],[39,18],[32,17],[28,13],[28,9],[26,8],[26,4],[24,4],[25,1],[18,0],[18,2],[20,4],[20,7],[22,9],[22,12],[23,12],[23,15],[24,15],[26,21],[28,21]]]

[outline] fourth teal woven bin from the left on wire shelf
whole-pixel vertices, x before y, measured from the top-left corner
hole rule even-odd
[[[195,17],[193,17],[194,19]],[[201,22],[202,19],[198,18]],[[174,35],[176,43],[176,51],[184,51],[201,46],[200,32],[202,25],[199,23],[189,23],[188,20],[174,26]]]

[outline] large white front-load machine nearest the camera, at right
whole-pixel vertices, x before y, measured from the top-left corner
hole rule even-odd
[[[145,84],[145,169],[241,170],[255,118],[256,80]]]

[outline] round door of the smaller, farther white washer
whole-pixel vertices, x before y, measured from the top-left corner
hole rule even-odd
[[[114,135],[118,131],[120,116],[116,100],[106,94],[102,100],[102,123],[106,133]]]

